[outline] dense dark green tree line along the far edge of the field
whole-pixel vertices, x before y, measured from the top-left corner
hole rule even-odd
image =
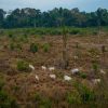
[[[30,8],[11,12],[0,9],[0,28],[59,27],[63,24],[72,27],[108,26],[108,10],[99,8],[86,13],[80,12],[78,8],[55,8],[48,12]]]

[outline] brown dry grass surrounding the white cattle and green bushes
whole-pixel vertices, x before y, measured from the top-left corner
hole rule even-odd
[[[18,103],[32,103],[33,94],[39,93],[53,99],[54,108],[68,108],[68,104],[65,102],[65,94],[71,90],[76,90],[73,86],[75,82],[80,82],[91,89],[96,89],[91,82],[92,78],[98,78],[99,76],[92,75],[92,62],[98,60],[99,68],[108,71],[108,52],[105,55],[102,54],[100,46],[104,44],[108,49],[108,37],[102,36],[98,40],[97,36],[89,37],[75,37],[68,38],[68,57],[69,66],[67,70],[62,69],[62,50],[63,41],[62,36],[45,36],[42,38],[30,36],[27,42],[19,41],[16,39],[13,41],[8,37],[0,37],[0,76],[4,77],[5,85],[4,91],[13,95]],[[9,45],[11,42],[21,44],[22,50],[11,51]],[[79,43],[79,48],[76,48],[76,42]],[[30,43],[37,43],[39,51],[35,54],[29,51]],[[44,52],[42,45],[49,43],[51,45],[50,51]],[[95,49],[98,51],[96,56],[92,55],[90,50]],[[76,59],[73,56],[78,56]],[[32,64],[36,68],[32,72],[21,72],[16,68],[17,60],[23,59]],[[52,80],[49,75],[51,71],[43,71],[41,66],[55,66],[55,73],[57,78]],[[81,71],[86,73],[86,79],[79,76],[72,76],[70,69],[79,68]],[[40,80],[37,81],[35,76],[38,75]],[[64,81],[64,75],[68,75],[72,78],[70,82]],[[108,73],[106,73],[105,82],[108,80]],[[103,79],[102,78],[102,79]],[[108,85],[106,85],[108,86]],[[31,106],[30,106],[31,107]],[[35,107],[35,106],[32,106]]]

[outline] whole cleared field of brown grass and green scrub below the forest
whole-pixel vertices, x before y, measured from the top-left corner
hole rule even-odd
[[[15,98],[16,102],[12,99],[14,106],[108,106],[107,27],[102,28],[99,37],[97,28],[67,29],[69,65],[66,70],[62,65],[60,28],[0,30],[0,91]],[[29,65],[35,69],[29,68]],[[50,70],[50,67],[54,69]],[[79,69],[79,72],[75,75],[71,72],[72,69]],[[50,75],[55,75],[56,78]],[[64,76],[70,77],[71,80],[65,80]],[[4,96],[1,92],[0,95]]]

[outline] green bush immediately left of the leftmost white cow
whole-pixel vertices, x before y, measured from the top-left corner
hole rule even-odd
[[[18,60],[17,62],[17,70],[26,71],[26,72],[30,71],[29,64],[24,60]]]

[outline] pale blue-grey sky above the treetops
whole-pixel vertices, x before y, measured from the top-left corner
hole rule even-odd
[[[41,11],[54,8],[79,8],[81,11],[95,11],[97,8],[108,9],[108,0],[0,0],[0,9],[35,8]]]

